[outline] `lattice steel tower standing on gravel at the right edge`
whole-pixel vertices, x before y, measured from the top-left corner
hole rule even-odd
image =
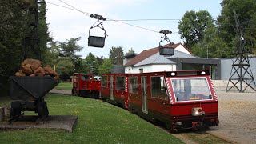
[[[243,23],[239,22],[238,15],[234,10],[233,12],[236,23],[234,29],[237,33],[238,43],[237,51],[235,52],[236,58],[233,59],[230,79],[227,83],[226,91],[235,88],[239,92],[243,93],[248,87],[256,91],[254,76],[250,69],[249,54],[251,53],[251,50],[246,47],[246,40],[244,38],[246,26],[248,26],[249,21]]]

